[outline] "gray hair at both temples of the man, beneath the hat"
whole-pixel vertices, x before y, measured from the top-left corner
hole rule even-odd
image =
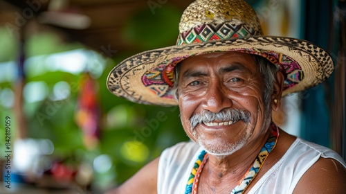
[[[266,104],[266,110],[269,109],[271,105],[271,94],[273,93],[273,87],[274,87],[274,81],[275,81],[275,74],[277,70],[279,69],[275,64],[268,61],[266,58],[263,58],[259,55],[253,55],[253,58],[255,58],[255,63],[257,64],[256,67],[260,67],[260,72],[262,73],[263,79],[264,79],[264,103]],[[175,71],[174,71],[174,86],[173,86],[173,92],[174,92],[174,98],[176,100],[178,99],[178,85],[179,85],[179,71],[181,69],[181,62],[176,64]]]

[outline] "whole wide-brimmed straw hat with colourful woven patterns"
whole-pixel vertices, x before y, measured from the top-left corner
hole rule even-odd
[[[177,105],[174,67],[192,55],[239,51],[260,55],[284,74],[283,96],[318,85],[334,69],[330,55],[302,39],[265,36],[253,8],[243,0],[197,0],[186,8],[175,46],[120,62],[107,78],[116,96],[136,103]],[[162,29],[165,33],[165,29]]]

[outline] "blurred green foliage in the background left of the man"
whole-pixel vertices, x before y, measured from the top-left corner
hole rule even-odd
[[[165,148],[180,141],[188,141],[188,136],[181,127],[178,107],[134,104],[113,96],[106,87],[108,73],[121,60],[138,51],[175,44],[182,11],[167,5],[156,9],[156,14],[152,15],[149,8],[146,8],[138,10],[127,22],[123,35],[128,42],[136,44],[134,46],[136,50],[127,53],[119,51],[114,58],[104,60],[106,66],[97,79],[98,102],[101,109],[100,141],[93,149],[86,148],[82,130],[75,122],[80,82],[84,78],[83,71],[69,73],[51,70],[40,74],[37,72],[42,69],[37,67],[45,63],[46,57],[34,62],[37,67],[32,65],[26,69],[28,76],[25,82],[26,84],[44,82],[47,94],[43,100],[24,103],[28,137],[51,139],[55,146],[51,157],[71,166],[80,164],[92,166],[95,157],[109,155],[113,162],[111,169],[102,173],[94,172],[93,175],[93,185],[103,188],[109,184],[125,182],[147,162],[158,157]],[[6,33],[5,28],[0,28],[0,50],[3,51],[0,53],[0,61],[13,61],[15,65],[19,43],[17,39]],[[30,58],[71,51],[83,46],[78,43],[62,44],[54,33],[39,33],[26,39],[25,48],[26,57]],[[49,97],[53,95],[53,88],[62,80],[69,84],[70,94],[62,100],[52,100]],[[4,89],[14,91],[16,87],[15,80],[0,82],[0,94]],[[31,94],[33,93],[34,91]],[[1,118],[11,116],[14,123],[12,129],[17,127],[16,116],[8,107],[0,105],[0,116]],[[3,126],[1,123],[1,134],[4,133]],[[12,135],[15,134],[14,131]],[[4,149],[3,145],[0,147],[1,150]]]

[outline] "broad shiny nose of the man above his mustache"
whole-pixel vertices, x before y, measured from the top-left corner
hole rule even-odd
[[[232,107],[233,102],[227,93],[228,89],[220,82],[215,82],[212,85],[209,85],[206,95],[203,96],[203,109],[208,109],[210,112],[217,113],[222,109]]]

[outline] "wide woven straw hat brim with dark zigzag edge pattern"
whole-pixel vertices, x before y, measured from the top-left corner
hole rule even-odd
[[[172,94],[165,95],[172,93],[172,85],[154,83],[150,87],[145,86],[143,75],[162,64],[167,66],[167,62],[172,59],[183,60],[192,55],[226,51],[240,51],[264,57],[270,55],[274,60],[276,58],[277,62],[271,61],[280,67],[286,82],[282,96],[318,85],[329,78],[334,69],[331,56],[311,42],[289,37],[261,36],[169,46],[145,51],[120,62],[109,73],[107,87],[114,95],[135,103],[177,105]],[[292,74],[291,62],[282,62],[282,57],[296,62],[299,72]],[[294,84],[290,85],[292,80]]]

